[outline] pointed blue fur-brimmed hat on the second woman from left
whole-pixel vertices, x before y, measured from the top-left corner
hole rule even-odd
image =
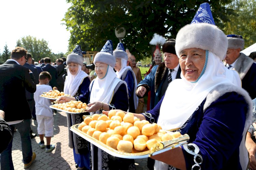
[[[100,52],[95,55],[94,64],[97,62],[105,63],[111,67],[115,67],[116,60],[113,56],[113,43],[111,40],[107,40]]]

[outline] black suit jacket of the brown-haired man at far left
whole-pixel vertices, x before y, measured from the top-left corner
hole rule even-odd
[[[36,90],[33,74],[15,61],[6,61],[0,65],[0,77],[0,109],[5,112],[5,121],[31,119],[26,90]]]

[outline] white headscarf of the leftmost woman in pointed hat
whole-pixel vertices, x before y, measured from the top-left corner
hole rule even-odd
[[[86,74],[84,71],[81,70],[82,66],[78,65],[78,70],[75,75],[71,74],[67,66],[67,73],[65,84],[64,84],[64,93],[74,96],[83,82],[84,78],[88,77],[89,75]]]

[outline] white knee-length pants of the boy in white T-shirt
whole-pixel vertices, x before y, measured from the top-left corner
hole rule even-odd
[[[46,137],[53,136],[53,117],[37,115],[37,132],[39,135],[45,134]]]

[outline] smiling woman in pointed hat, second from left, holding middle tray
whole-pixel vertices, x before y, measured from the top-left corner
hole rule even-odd
[[[91,112],[91,114],[99,114],[102,110],[110,111],[113,108],[127,111],[129,106],[128,90],[126,83],[116,77],[113,69],[115,63],[112,41],[108,40],[101,52],[95,55],[94,64],[97,78],[91,82],[89,89],[83,96],[63,96],[57,100],[60,103],[71,100],[80,100],[88,103],[87,105],[90,108],[87,111]],[[128,167],[135,168],[134,160],[113,158],[93,145],[91,149],[91,166],[94,169],[97,169],[97,167],[98,169],[114,169],[115,166],[122,166],[124,169],[128,169]]]

